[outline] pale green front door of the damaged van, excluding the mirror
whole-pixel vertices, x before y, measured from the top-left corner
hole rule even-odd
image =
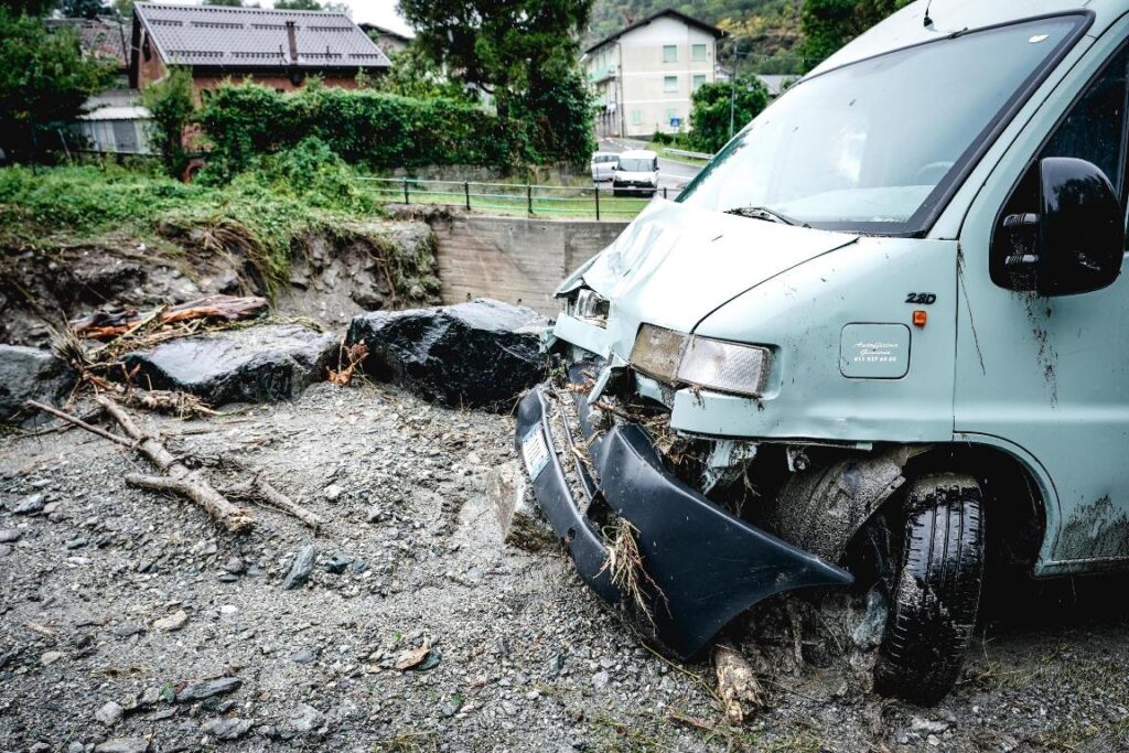
[[[1097,165],[1126,205],[1126,32],[1114,25],[1059,82],[961,230],[955,436],[1006,448],[1043,487],[1036,575],[1129,564],[1129,274],[1082,295],[1017,291],[999,227],[1039,211],[1042,157]]]

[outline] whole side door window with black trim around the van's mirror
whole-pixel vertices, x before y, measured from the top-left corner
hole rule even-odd
[[[1097,78],[1089,82],[1085,94],[1075,100],[1067,116],[1048,139],[1047,146],[1039,152],[1039,158],[1032,160],[1019,185],[1007,200],[996,222],[988,262],[989,273],[996,284],[1013,290],[1025,289],[1006,269],[1004,260],[1009,254],[1026,252],[1013,247],[1014,239],[1001,231],[1000,222],[1008,214],[1039,212],[1039,160],[1043,157],[1076,157],[1093,163],[1110,178],[1121,198],[1122,208],[1124,207],[1129,182],[1126,175],[1129,146],[1129,120],[1126,119],[1129,105],[1127,71],[1129,46],[1118,52]]]

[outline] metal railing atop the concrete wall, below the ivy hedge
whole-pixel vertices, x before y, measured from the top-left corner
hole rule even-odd
[[[390,203],[440,204],[467,211],[482,209],[533,217],[627,219],[639,213],[650,200],[649,196],[615,196],[594,184],[560,186],[413,177],[358,177],[357,181]],[[665,199],[667,190],[658,189],[656,195]]]

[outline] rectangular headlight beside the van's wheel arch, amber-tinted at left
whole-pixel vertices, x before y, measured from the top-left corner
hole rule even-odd
[[[631,366],[660,382],[691,384],[759,397],[764,392],[772,352],[683,334],[644,324],[631,348]]]

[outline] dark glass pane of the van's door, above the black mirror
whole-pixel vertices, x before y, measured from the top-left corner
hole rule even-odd
[[[1124,199],[1126,71],[1129,47],[1119,52],[1059,124],[1042,157],[1077,157],[1102,168]]]

